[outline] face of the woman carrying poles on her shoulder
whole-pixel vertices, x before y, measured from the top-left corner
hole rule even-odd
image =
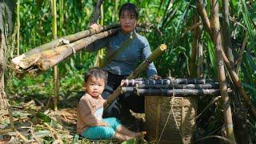
[[[125,10],[121,15],[120,15],[120,25],[122,28],[122,33],[130,33],[132,32],[137,24],[137,18],[134,14],[131,14],[129,11]]]

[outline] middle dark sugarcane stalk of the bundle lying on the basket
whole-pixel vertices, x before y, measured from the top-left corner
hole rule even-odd
[[[219,84],[218,83],[206,83],[206,84],[181,84],[181,85],[176,85],[176,84],[170,84],[170,85],[161,85],[161,84],[136,84],[134,85],[138,89],[149,89],[149,88],[158,88],[158,89],[218,89]]]

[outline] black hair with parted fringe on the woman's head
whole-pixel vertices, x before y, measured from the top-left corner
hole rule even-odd
[[[126,2],[125,4],[123,4],[119,10],[119,18],[120,16],[125,12],[128,11],[130,14],[134,14],[134,16],[136,17],[136,19],[138,19],[138,7],[135,6],[134,4],[130,3],[130,2]]]

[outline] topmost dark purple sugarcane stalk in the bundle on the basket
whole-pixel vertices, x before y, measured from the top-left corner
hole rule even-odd
[[[122,80],[122,86],[135,86],[137,84],[146,84],[146,85],[170,85],[176,86],[179,84],[218,84],[216,81],[206,80],[204,78],[175,78],[175,79],[124,79]]]

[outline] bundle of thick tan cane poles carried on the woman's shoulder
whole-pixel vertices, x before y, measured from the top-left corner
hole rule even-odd
[[[139,30],[146,30],[145,28],[149,27],[149,24],[138,24]],[[13,68],[18,74],[38,74],[38,72],[50,69],[58,62],[62,62],[65,58],[90,45],[90,43],[115,34],[118,29],[120,29],[119,24],[101,26],[98,34],[96,30],[89,29],[55,39],[13,58]]]

